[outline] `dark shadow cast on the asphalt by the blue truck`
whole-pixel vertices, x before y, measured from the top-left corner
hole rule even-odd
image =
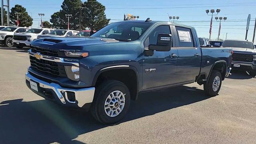
[[[192,104],[209,97],[195,87],[179,86],[140,94],[121,121],[127,122],[158,112]],[[0,103],[0,143],[72,143],[81,134],[108,125],[100,124],[90,112],[58,106],[48,100],[24,102],[23,99]]]

